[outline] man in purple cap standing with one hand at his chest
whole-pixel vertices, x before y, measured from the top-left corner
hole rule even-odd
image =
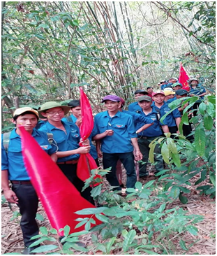
[[[126,169],[126,187],[135,187],[137,178],[133,148],[136,161],[142,159],[142,153],[137,143],[133,117],[119,111],[121,99],[117,95],[107,95],[102,102],[105,103],[107,111],[95,116],[98,134],[93,139],[101,140],[104,169],[112,167],[106,178],[110,185],[117,186],[117,190],[121,190],[116,174],[117,162],[120,159]]]

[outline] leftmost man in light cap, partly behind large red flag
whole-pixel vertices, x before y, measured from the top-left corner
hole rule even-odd
[[[49,136],[45,132],[35,129],[38,118],[38,111],[33,108],[17,108],[13,113],[15,129],[1,136],[1,187],[6,200],[17,204],[20,208],[22,215],[20,227],[26,247],[22,252],[24,255],[29,255],[31,250],[40,245],[29,248],[36,241],[36,239],[31,240],[31,237],[38,235],[36,222],[38,196],[31,185],[31,178],[24,166],[19,126],[22,125],[36,139],[40,147],[50,155],[52,160],[57,161],[57,148],[50,145]],[[11,189],[8,180],[12,184]]]

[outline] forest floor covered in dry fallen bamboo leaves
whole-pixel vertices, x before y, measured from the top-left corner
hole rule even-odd
[[[150,168],[150,166],[149,166]],[[151,176],[149,180],[154,178],[153,170],[149,169],[149,173]],[[197,177],[198,178],[198,177]],[[181,249],[179,246],[179,241],[174,239],[174,246],[176,247],[177,255],[181,254],[199,254],[199,255],[215,255],[216,254],[216,201],[214,199],[210,199],[207,196],[200,196],[199,191],[196,190],[196,187],[193,185],[197,178],[192,178],[190,182],[192,185],[190,186],[191,192],[189,194],[185,194],[188,198],[187,204],[181,204],[179,200],[174,201],[170,204],[171,208],[176,206],[184,208],[184,210],[188,211],[189,214],[202,215],[204,220],[195,224],[195,227],[198,229],[197,236],[193,236],[190,233],[186,232],[181,239],[186,241],[186,246],[188,246],[192,241],[197,240],[197,242],[188,250],[188,252]],[[146,183],[147,180],[140,180],[141,183]],[[206,185],[204,182],[202,185]],[[189,187],[188,187],[189,188]],[[20,229],[20,216],[17,218],[13,218],[13,213],[17,213],[17,206],[12,206],[14,212],[10,211],[7,203],[1,205],[1,253],[21,253],[24,250],[24,243],[22,241],[22,232]],[[44,220],[38,220],[38,225],[40,227],[51,228],[49,220],[47,220],[47,216],[43,211],[43,207],[40,205],[38,208],[38,213],[43,215]],[[189,241],[189,243],[188,243]],[[91,243],[91,237],[85,236],[84,241],[87,246]],[[102,241],[103,242],[103,241]],[[177,243],[177,244],[176,244]],[[44,244],[47,244],[46,241]],[[82,254],[81,252],[74,252],[74,254]],[[92,255],[93,253],[90,251],[88,253]],[[118,251],[113,251],[112,254],[119,255]]]

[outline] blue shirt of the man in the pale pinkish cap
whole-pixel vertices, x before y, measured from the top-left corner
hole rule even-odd
[[[163,117],[163,115],[165,115],[167,112],[169,112],[171,110],[171,108],[169,108],[168,104],[164,101],[163,106],[161,106],[160,108],[158,108],[155,103],[153,104],[153,108],[158,112],[160,112],[160,118]],[[172,113],[170,113],[169,115],[167,115],[167,117],[165,118],[165,120],[163,120],[163,124],[167,125],[168,127],[174,127],[176,126],[176,121],[175,118],[181,118],[180,112],[179,110],[176,108],[174,109],[174,111],[172,111]]]

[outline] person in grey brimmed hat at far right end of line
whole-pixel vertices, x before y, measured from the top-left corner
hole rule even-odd
[[[193,109],[195,111],[193,111],[193,116],[197,115],[197,108],[200,105],[200,103],[202,102],[201,99],[204,99],[204,95],[207,94],[205,88],[202,85],[199,85],[199,80],[197,80],[197,78],[191,78],[190,80],[188,80],[188,84],[190,86],[190,97],[193,96],[199,96],[200,99],[198,99],[195,104],[193,104]]]

